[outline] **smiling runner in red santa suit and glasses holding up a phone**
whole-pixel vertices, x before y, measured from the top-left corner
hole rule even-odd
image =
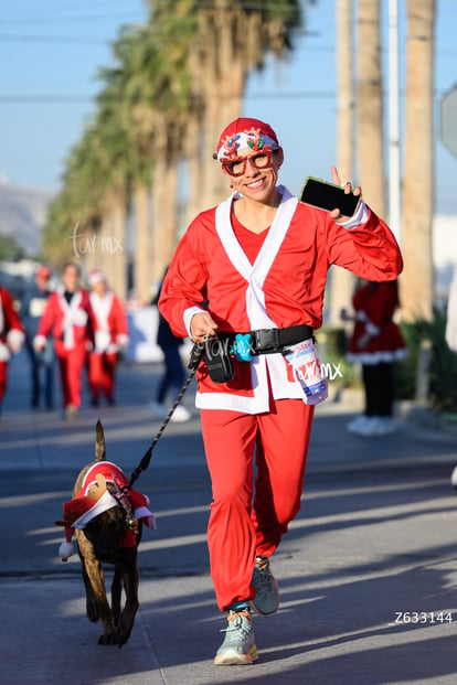
[[[234,192],[189,226],[159,308],[176,335],[206,347],[196,406],[212,479],[211,574],[228,620],[215,663],[225,665],[257,657],[251,609],[268,616],[278,608],[269,557],[300,507],[313,415],[293,360],[311,347],[321,325],[328,269],[338,264],[389,280],[398,276],[402,257],[363,201],[348,218],[305,205],[277,185],[284,153],[267,124],[236,119],[215,157]],[[340,184],[334,168],[332,176]],[[344,190],[351,191],[349,182]],[[224,351],[236,355],[234,374],[216,382],[227,366]]]

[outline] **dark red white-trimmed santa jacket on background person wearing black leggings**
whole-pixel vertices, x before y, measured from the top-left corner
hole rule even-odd
[[[398,304],[396,281],[370,282],[352,300],[355,325],[348,360],[379,364],[404,358],[407,354],[398,327],[392,320]]]

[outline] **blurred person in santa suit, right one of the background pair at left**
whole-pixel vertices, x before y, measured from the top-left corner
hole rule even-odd
[[[128,323],[119,298],[108,288],[102,271],[88,275],[91,307],[94,312],[94,349],[88,357],[88,384],[92,405],[98,406],[104,395],[115,403],[115,374],[119,352],[128,345]]]

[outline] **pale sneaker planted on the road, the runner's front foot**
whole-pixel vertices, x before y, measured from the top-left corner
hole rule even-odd
[[[258,659],[254,641],[253,618],[248,609],[227,613],[224,642],[214,657],[216,666],[246,666]],[[221,631],[221,632],[223,632]]]

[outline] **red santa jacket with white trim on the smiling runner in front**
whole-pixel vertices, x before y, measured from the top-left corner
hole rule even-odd
[[[182,237],[164,278],[159,309],[176,335],[209,301],[221,331],[244,332],[322,322],[323,290],[332,264],[370,280],[395,279],[403,266],[387,226],[366,205],[363,223],[348,229],[327,212],[299,203],[284,186],[281,202],[252,265],[231,224],[233,195],[200,214]],[[364,221],[366,218],[366,221]],[[235,361],[235,376],[214,384],[198,374],[196,406],[256,414],[275,398],[302,397],[281,354]]]

